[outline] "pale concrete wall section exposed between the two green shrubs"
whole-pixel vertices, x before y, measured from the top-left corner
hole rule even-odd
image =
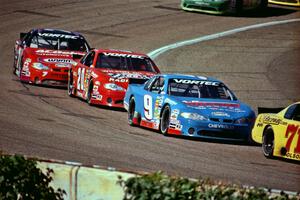
[[[66,200],[121,200],[124,191],[117,184],[118,177],[126,180],[135,176],[134,173],[115,171],[114,168],[87,167],[72,162],[39,161],[38,167],[43,172],[47,168],[54,171],[50,185],[54,189],[65,190]]]

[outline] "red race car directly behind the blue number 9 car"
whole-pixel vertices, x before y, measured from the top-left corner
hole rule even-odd
[[[145,54],[94,49],[70,70],[68,94],[89,104],[123,108],[128,79],[148,80],[157,73]]]

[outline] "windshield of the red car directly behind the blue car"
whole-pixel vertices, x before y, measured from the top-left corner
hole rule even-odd
[[[156,72],[150,58],[121,53],[101,53],[97,58],[96,68]]]

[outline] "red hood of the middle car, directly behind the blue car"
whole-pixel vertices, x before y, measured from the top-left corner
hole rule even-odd
[[[129,79],[150,79],[156,73],[146,71],[127,71],[127,70],[103,70],[97,69],[97,74],[101,74],[102,79],[105,78],[107,83],[115,83],[123,88],[128,87]],[[92,74],[93,75],[93,74]]]

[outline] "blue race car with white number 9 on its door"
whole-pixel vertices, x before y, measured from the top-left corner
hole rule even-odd
[[[156,75],[130,84],[124,98],[130,125],[198,138],[248,141],[254,111],[220,81],[190,75]]]

